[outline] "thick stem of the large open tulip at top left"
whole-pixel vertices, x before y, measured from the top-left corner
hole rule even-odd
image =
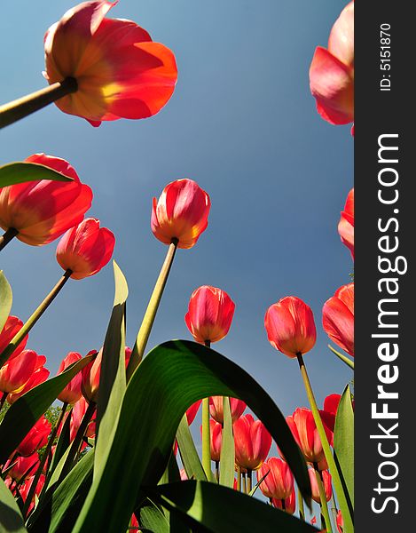
[[[67,77],[62,82],[48,85],[40,91],[32,92],[0,106],[0,129],[76,91],[78,91],[78,84],[75,78]]]

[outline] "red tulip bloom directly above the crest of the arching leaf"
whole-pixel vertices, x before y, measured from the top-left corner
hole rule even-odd
[[[203,285],[192,292],[184,320],[196,341],[216,342],[232,325],[235,304],[221,289]]]

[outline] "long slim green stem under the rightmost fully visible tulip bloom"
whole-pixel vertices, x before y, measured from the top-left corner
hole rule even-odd
[[[305,363],[303,362],[302,354],[299,352],[296,354],[297,361],[299,362],[299,368],[301,370],[303,384],[305,386],[306,394],[308,396],[308,400],[310,402],[310,409],[312,410],[313,419],[315,420],[315,424],[318,429],[318,434],[320,441],[322,442],[322,449],[324,450],[326,462],[329,467],[329,471],[332,474],[333,481],[334,481],[334,487],[336,489],[336,494],[338,497],[338,501],[341,506],[341,512],[344,520],[344,532],[345,533],[353,533],[354,531],[354,525],[352,521],[351,512],[349,509],[349,503],[347,501],[347,497],[345,496],[345,492],[342,488],[342,481],[341,476],[338,471],[338,468],[335,464],[334,456],[331,451],[331,447],[329,445],[328,439],[326,437],[326,432],[324,428],[324,424],[322,422],[322,419],[319,415],[318,405],[315,400],[315,396],[313,394],[312,387],[310,386],[310,379],[308,377],[308,372],[306,371]]]

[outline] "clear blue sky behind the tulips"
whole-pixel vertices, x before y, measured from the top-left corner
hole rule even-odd
[[[0,19],[0,103],[45,85],[43,33],[74,0],[9,2]],[[337,224],[353,184],[349,126],[324,122],[310,96],[315,46],[346,2],[334,0],[121,0],[113,17],[135,20],[168,45],[177,90],[159,115],[94,129],[51,106],[0,131],[0,163],[35,152],[66,158],[94,191],[90,216],[117,238],[114,258],[130,285],[132,345],[166,247],[150,230],[152,197],[178,178],[195,179],[212,201],[208,229],[180,250],[150,338],[190,338],[189,296],[211,284],[231,295],[230,334],[215,347],[250,372],[280,409],[307,405],[297,363],[276,352],[263,328],[287,295],[312,307],[318,343],[305,362],[318,402],[341,393],[349,369],[328,351],[321,308],[349,282],[352,261]],[[12,313],[25,320],[61,275],[56,243],[10,244],[0,268],[12,283]],[[30,335],[52,375],[69,350],[103,342],[113,301],[112,268],[70,281]]]

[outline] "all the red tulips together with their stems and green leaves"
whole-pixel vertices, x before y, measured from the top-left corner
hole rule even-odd
[[[146,118],[167,103],[177,81],[173,53],[136,23],[106,18],[114,4],[84,2],[51,26],[44,40],[49,87],[0,107],[0,127],[51,102],[93,126]],[[351,2],[310,68],[318,112],[330,123],[353,122],[353,11]],[[351,533],[345,435],[353,402],[347,386],[318,409],[303,361],[317,331],[302,299],[280,298],[264,316],[271,346],[297,360],[310,402],[286,418],[244,370],[211,348],[232,326],[235,304],[225,290],[193,291],[184,316],[193,342],[170,341],[145,353],[177,249],[191,249],[208,227],[211,201],[192,179],[172,181],[153,198],[151,229],[168,251],[134,346],[125,345],[128,290],[114,263],[103,346],[84,356],[68,353],[54,378],[46,358],[27,349],[30,330],[64,284],[98,274],[113,256],[113,233],[85,218],[91,201],[90,187],[62,158],[35,154],[0,168],[0,251],[14,238],[32,246],[60,238],[56,258],[64,271],[26,322],[10,314],[12,289],[0,278],[0,529],[253,531],[261,523],[262,531],[306,533],[318,524]],[[354,189],[338,231],[354,258]],[[353,357],[353,282],[327,299],[322,323]],[[348,355],[331,350],[354,368]],[[56,400],[59,417],[51,424],[45,413]],[[247,407],[257,419],[244,414]],[[200,409],[201,457],[189,429]],[[260,491],[267,505],[253,497]],[[318,519],[305,513],[310,498],[320,505]]]

